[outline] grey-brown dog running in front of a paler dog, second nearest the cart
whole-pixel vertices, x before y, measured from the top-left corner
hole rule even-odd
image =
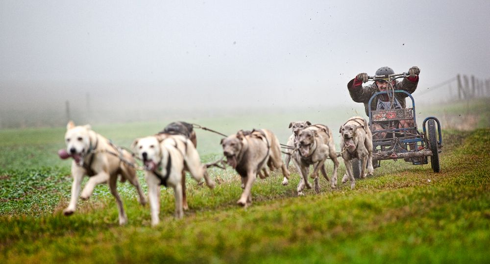
[[[298,150],[293,154],[294,164],[301,175],[301,181],[297,188],[298,195],[303,195],[305,186],[311,189],[311,184],[308,182],[310,165],[314,165],[311,177],[315,179],[315,191],[317,193],[320,192],[318,171],[321,169],[323,177],[327,181],[329,180],[325,169],[325,160],[327,158],[330,158],[334,163],[330,186],[335,188],[337,185],[339,162],[337,161],[337,153],[335,152],[335,144],[330,129],[321,124],[311,125],[299,133],[298,142]]]

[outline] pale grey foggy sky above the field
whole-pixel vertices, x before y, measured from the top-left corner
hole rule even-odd
[[[0,110],[352,106],[346,83],[490,77],[490,1],[0,0]],[[417,97],[417,93],[414,96]]]

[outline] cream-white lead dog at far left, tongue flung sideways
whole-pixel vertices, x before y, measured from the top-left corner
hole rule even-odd
[[[119,209],[119,224],[121,225],[127,223],[127,216],[116,188],[118,175],[121,175],[122,182],[128,180],[136,187],[140,203],[142,205],[146,204],[145,195],[136,177],[135,168],[128,165],[128,163],[134,164],[131,154],[117,148],[109,140],[94,132],[90,125],[75,126],[73,121],[70,121],[67,125],[65,143],[66,151],[60,150],[58,154],[63,159],[73,158],[72,197],[68,207],[63,210],[66,216],[75,212],[76,201],[84,175],[89,176],[90,179],[85,185],[80,198],[83,200],[88,199],[97,184],[108,182],[109,189],[114,198],[116,198]]]

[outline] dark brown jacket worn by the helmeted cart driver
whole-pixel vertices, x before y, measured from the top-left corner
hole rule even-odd
[[[364,86],[364,87],[362,86],[362,84],[358,85],[358,86],[354,86],[354,80],[355,80],[355,78],[350,80],[350,82],[347,84],[347,88],[349,90],[350,97],[352,98],[352,100],[354,100],[354,102],[364,103],[366,115],[368,115],[368,113],[369,113],[368,112],[369,99],[371,98],[372,95],[379,92],[378,87],[376,85],[376,82],[374,82],[371,85]],[[415,82],[410,81],[407,78],[403,78],[403,80],[401,82],[398,80],[395,80],[394,89],[407,91],[408,93],[412,94],[417,89],[417,84],[418,84],[418,78],[417,78],[417,81],[415,81]],[[406,97],[408,97],[408,96],[404,93],[395,93],[395,98],[400,102],[400,105],[402,108],[406,107],[406,103],[405,103]],[[372,100],[371,110],[376,110],[377,102],[378,102],[378,100],[376,98],[374,98]]]

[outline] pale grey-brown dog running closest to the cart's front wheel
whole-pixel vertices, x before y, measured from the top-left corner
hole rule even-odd
[[[346,173],[343,175],[342,183],[350,180],[350,188],[354,189],[356,180],[352,172],[352,159],[362,160],[361,178],[366,177],[366,165],[368,174],[372,175],[372,133],[368,121],[362,117],[352,117],[345,122],[339,132],[341,133],[342,158],[345,163]]]

